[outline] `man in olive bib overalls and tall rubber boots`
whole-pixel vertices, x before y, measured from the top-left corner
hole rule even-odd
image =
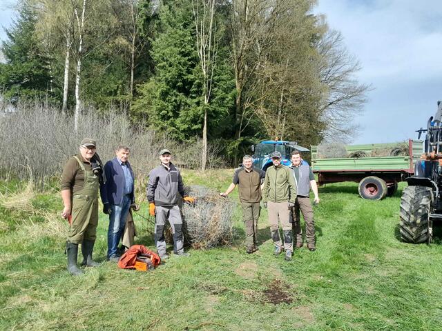
[[[92,139],[83,139],[79,154],[71,157],[64,166],[61,175],[61,198],[64,209],[61,216],[69,221],[66,252],[68,271],[79,275],[83,271],[77,267],[78,245],[81,243],[83,262],[81,265],[95,267],[92,259],[98,224],[98,190],[102,165],[95,155],[96,143]]]

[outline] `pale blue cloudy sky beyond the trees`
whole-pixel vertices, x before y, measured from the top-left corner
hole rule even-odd
[[[0,26],[10,26],[13,3],[0,0]],[[357,79],[372,88],[351,143],[416,139],[442,100],[440,0],[318,0],[314,13],[343,34],[361,62]]]

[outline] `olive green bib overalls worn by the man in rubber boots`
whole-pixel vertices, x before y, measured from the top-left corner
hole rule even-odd
[[[84,170],[84,188],[75,192],[72,199],[72,222],[68,230],[70,243],[79,244],[83,239],[95,241],[98,224],[98,188],[98,177],[92,170]]]

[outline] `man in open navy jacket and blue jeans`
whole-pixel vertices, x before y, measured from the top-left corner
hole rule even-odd
[[[129,148],[119,146],[117,155],[104,165],[106,185],[102,192],[103,212],[109,214],[108,254],[109,261],[118,261],[118,243],[124,232],[126,217],[132,203],[135,203],[134,174],[128,161]]]

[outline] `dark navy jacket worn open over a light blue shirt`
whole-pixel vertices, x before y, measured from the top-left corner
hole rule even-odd
[[[126,164],[131,172],[132,179],[135,176],[131,167],[131,163],[126,161]],[[107,161],[104,165],[104,172],[106,173],[106,184],[102,190],[103,203],[111,203],[111,205],[121,205],[123,203],[124,192],[124,172],[122,165],[119,164],[118,159],[114,157],[111,161]],[[132,190],[131,203],[135,203],[135,194]]]

